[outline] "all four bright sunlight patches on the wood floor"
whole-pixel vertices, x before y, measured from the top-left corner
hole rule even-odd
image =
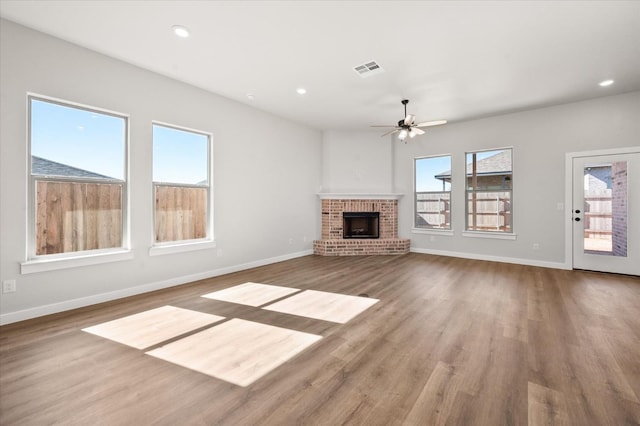
[[[258,311],[264,309],[342,324],[379,302],[368,297],[252,282],[202,297],[260,307]],[[270,302],[273,303],[269,305]],[[263,306],[265,304],[267,306]],[[146,350],[145,353],[154,358],[238,386],[252,384],[322,339],[319,335],[239,318],[221,322],[225,319],[162,306],[83,331]],[[190,332],[192,334],[188,334]]]

